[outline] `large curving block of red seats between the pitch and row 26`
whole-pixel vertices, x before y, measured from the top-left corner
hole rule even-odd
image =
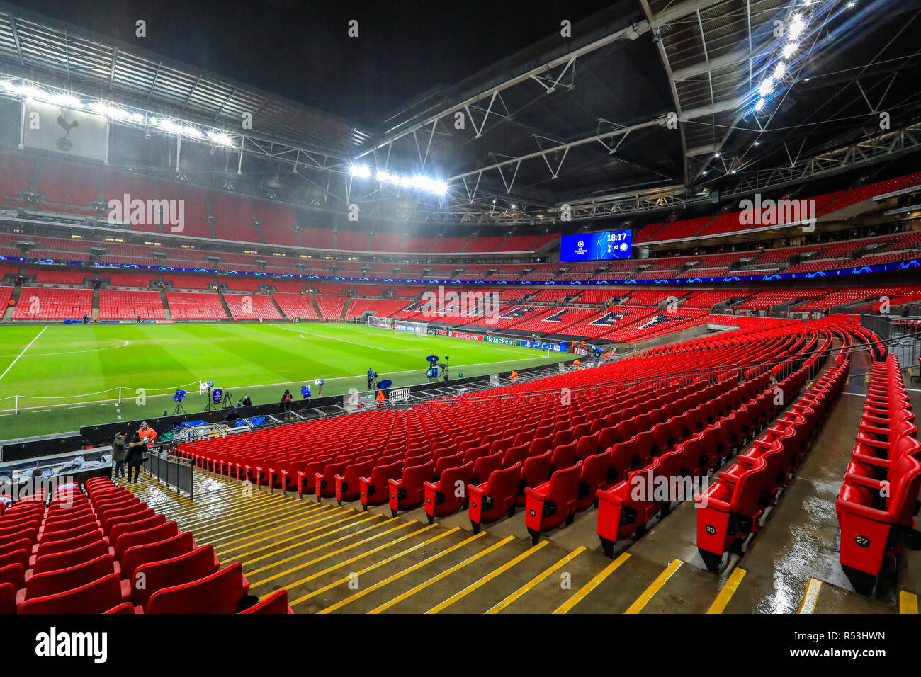
[[[823,328],[830,323],[759,326],[729,334],[735,338],[687,342],[686,352],[650,351],[644,359],[449,398],[408,411],[298,423],[183,444],[180,452],[215,473],[318,500],[358,498],[366,509],[389,502],[394,514],[424,503],[426,514],[435,519],[460,509],[469,498],[474,530],[528,500],[559,503],[555,486],[563,476],[554,482],[554,474],[577,466],[570,474],[577,484],[578,509],[584,509],[602,485],[620,481],[626,470],[635,469],[614,465],[612,472],[612,465],[605,462],[612,446],[717,398],[729,390],[729,379],[737,377],[736,365],[748,366],[741,370],[744,379],[757,382],[753,379],[763,378],[772,365],[810,349],[816,335],[812,324]],[[694,372],[683,376],[688,368]],[[612,385],[604,385],[605,380]],[[719,392],[708,390],[713,386]],[[570,391],[566,403],[561,402],[563,389]],[[657,417],[646,415],[650,411]],[[701,411],[710,410],[694,415]],[[622,416],[639,427],[617,427]],[[614,436],[614,428],[626,437]],[[457,485],[468,485],[467,491],[449,488]],[[561,505],[569,503],[576,505],[570,499]],[[542,508],[536,524],[529,525],[537,534],[558,523],[547,513]],[[557,514],[565,520],[572,511],[566,508]]]

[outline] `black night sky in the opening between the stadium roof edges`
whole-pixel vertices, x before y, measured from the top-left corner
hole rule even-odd
[[[29,0],[25,8],[342,115],[379,124],[576,24],[611,0]],[[143,18],[147,37],[134,36]],[[359,37],[346,35],[350,19]],[[561,43],[563,39],[560,39]]]

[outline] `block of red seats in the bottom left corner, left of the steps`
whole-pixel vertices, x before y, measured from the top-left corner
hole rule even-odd
[[[0,613],[286,613],[280,590],[256,603],[242,567],[221,569],[212,545],[196,546],[106,477],[44,490],[0,516]]]

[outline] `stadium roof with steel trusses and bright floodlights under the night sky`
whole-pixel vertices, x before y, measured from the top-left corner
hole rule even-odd
[[[0,80],[138,111],[113,119],[134,134],[155,114],[225,134],[182,144],[175,167],[114,158],[161,178],[403,222],[628,219],[921,147],[919,14],[902,0],[620,0],[378,129],[6,5]]]

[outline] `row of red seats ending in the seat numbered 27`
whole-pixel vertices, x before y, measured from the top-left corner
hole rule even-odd
[[[921,488],[921,444],[915,414],[895,356],[874,361],[867,401],[845,481],[835,503],[841,566],[859,592],[870,594],[886,558],[921,549],[915,531]]]

